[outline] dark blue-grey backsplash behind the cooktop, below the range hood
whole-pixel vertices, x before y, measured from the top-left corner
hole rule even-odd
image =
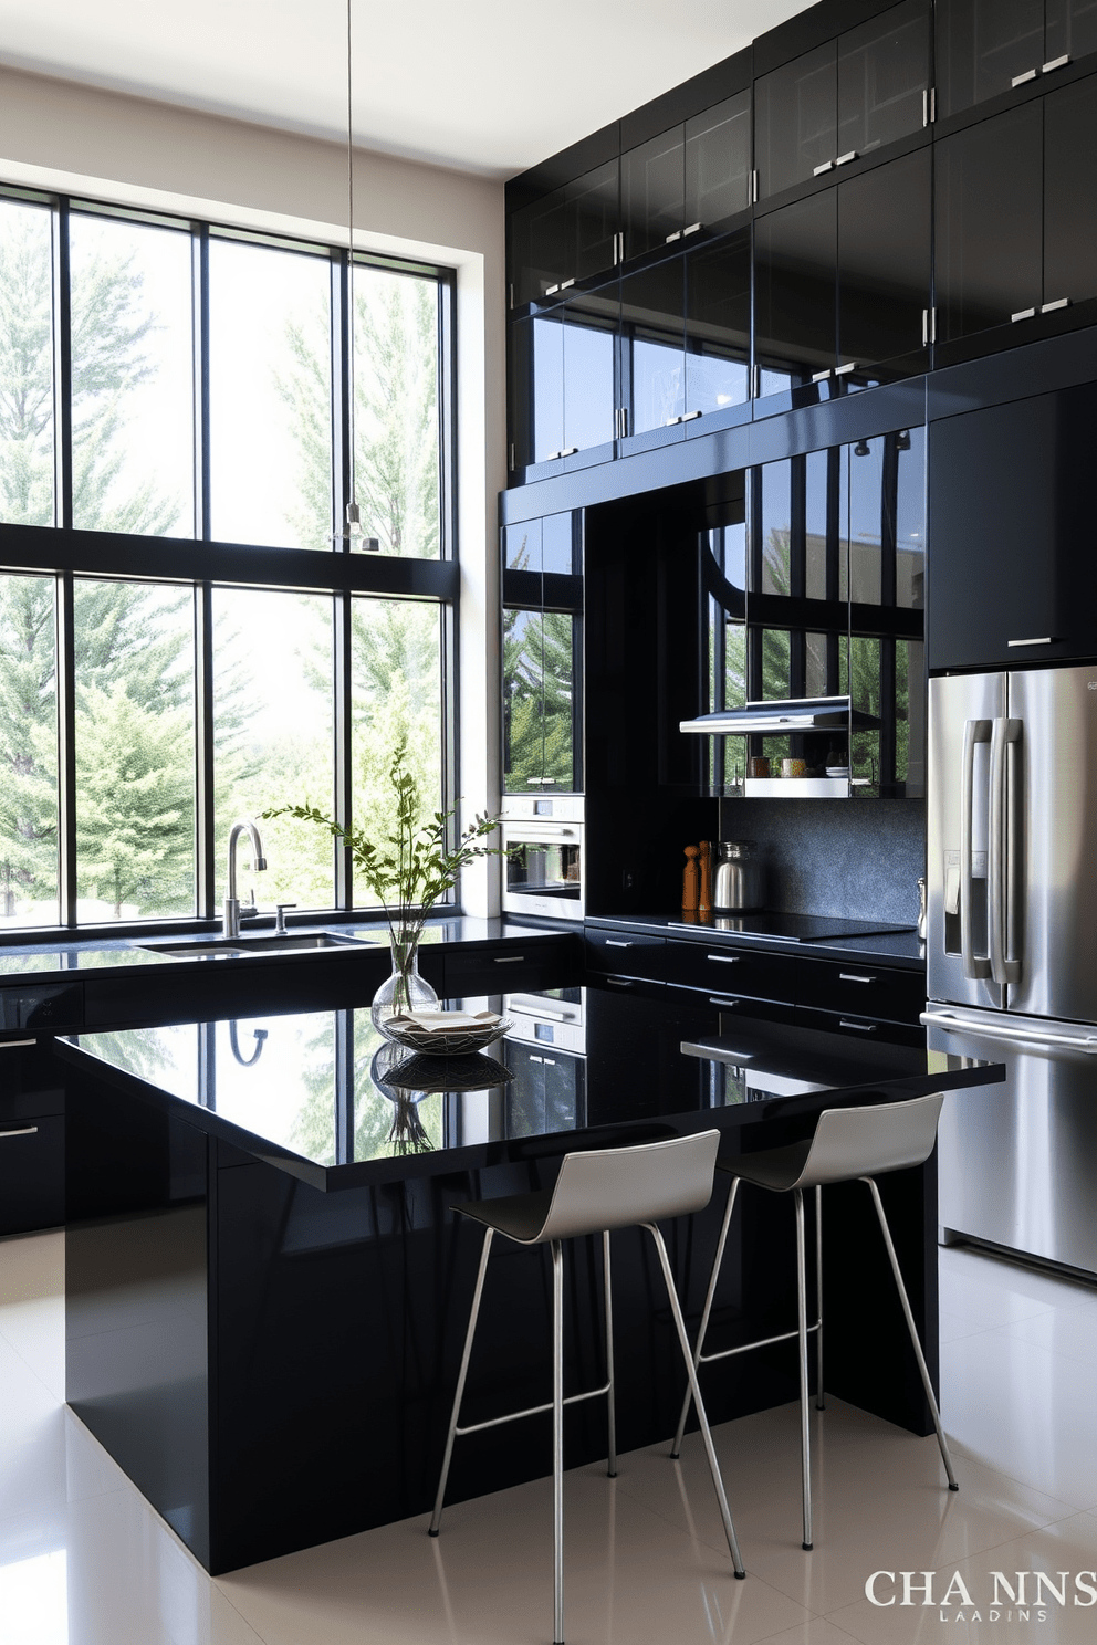
[[[916,799],[722,799],[720,837],[753,839],[766,906],[850,920],[918,920],[926,808]]]

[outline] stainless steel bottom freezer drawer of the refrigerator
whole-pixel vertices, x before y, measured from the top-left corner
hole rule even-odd
[[[1097,1028],[941,1005],[924,1022],[931,1051],[1007,1066],[946,1097],[941,1226],[1097,1273]]]

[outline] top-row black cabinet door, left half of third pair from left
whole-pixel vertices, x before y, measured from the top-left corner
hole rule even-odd
[[[806,183],[837,158],[837,43],[755,81],[758,199]]]

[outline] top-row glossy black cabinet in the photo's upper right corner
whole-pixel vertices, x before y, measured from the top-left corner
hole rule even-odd
[[[937,0],[937,117],[1097,51],[1094,0]]]

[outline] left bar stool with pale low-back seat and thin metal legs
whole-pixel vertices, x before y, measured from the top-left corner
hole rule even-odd
[[[510,1194],[500,1199],[479,1199],[452,1209],[464,1217],[472,1217],[484,1224],[484,1249],[480,1252],[480,1268],[475,1291],[472,1295],[472,1313],[465,1332],[465,1347],[457,1375],[457,1392],[446,1434],[446,1454],[442,1457],[442,1476],[437,1482],[434,1513],[431,1515],[429,1535],[437,1536],[442,1518],[442,1500],[446,1497],[446,1480],[454,1453],[454,1439],[484,1428],[498,1428],[502,1423],[518,1421],[521,1416],[535,1416],[541,1411],[553,1411],[553,1645],[564,1642],[564,1406],[577,1405],[581,1400],[594,1400],[605,1395],[609,1400],[609,1476],[617,1474],[617,1438],[613,1433],[613,1316],[610,1293],[610,1229],[645,1227],[655,1240],[660,1255],[666,1295],[669,1298],[678,1341],[686,1362],[689,1388],[697,1405],[704,1449],[709,1459],[709,1472],[715,1485],[720,1504],[724,1533],[732,1553],[735,1576],[742,1578],[743,1561],[738,1553],[735,1527],[720,1479],[720,1467],[715,1459],[715,1448],[709,1431],[709,1421],[701,1402],[697,1372],[686,1323],[674,1290],[674,1277],[666,1255],[663,1235],[656,1227],[658,1217],[681,1217],[691,1211],[702,1211],[712,1198],[712,1176],[715,1170],[715,1152],[720,1133],[715,1130],[701,1132],[694,1137],[674,1137],[669,1142],[641,1143],[632,1148],[600,1148],[587,1153],[566,1153],[556,1186],[530,1194]],[[484,1423],[470,1423],[467,1428],[457,1426],[461,1416],[461,1400],[469,1374],[472,1354],[472,1337],[475,1334],[480,1296],[484,1293],[484,1275],[487,1258],[495,1234],[503,1234],[518,1245],[549,1245],[553,1253],[553,1400],[551,1405],[533,1405],[525,1411],[510,1411],[507,1416],[493,1416]],[[571,1393],[564,1398],[564,1258],[562,1240],[576,1239],[582,1234],[602,1234],[602,1268],[605,1278],[605,1367],[607,1380],[600,1388],[586,1393]]]

